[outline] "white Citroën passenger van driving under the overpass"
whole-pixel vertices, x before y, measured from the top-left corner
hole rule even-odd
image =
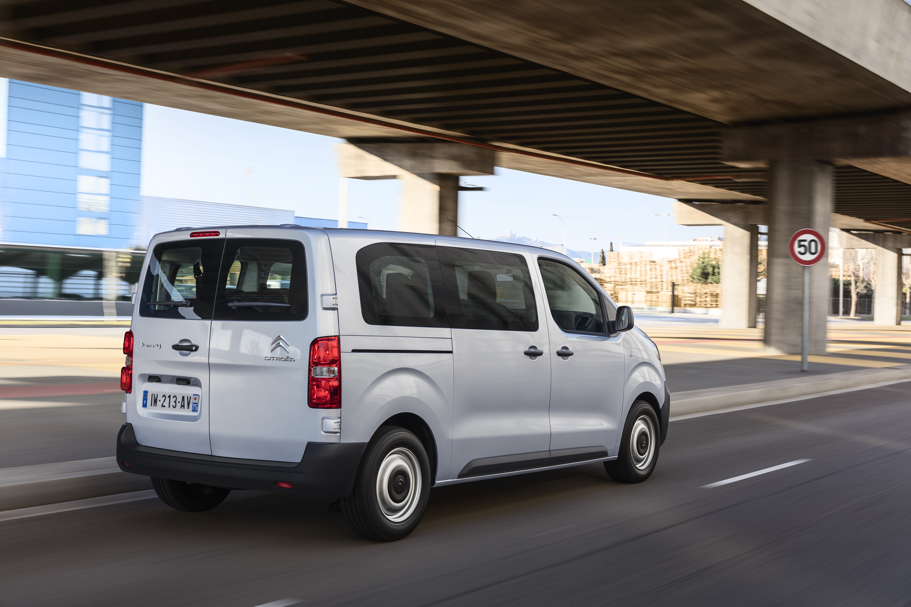
[[[231,489],[325,496],[394,541],[431,487],[597,461],[645,481],[667,434],[657,346],[547,249],[179,228],[140,276],[118,464],[181,511]]]

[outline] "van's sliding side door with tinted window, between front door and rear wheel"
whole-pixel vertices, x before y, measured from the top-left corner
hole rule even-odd
[[[548,333],[528,258],[437,244],[453,336],[450,478],[547,466]]]

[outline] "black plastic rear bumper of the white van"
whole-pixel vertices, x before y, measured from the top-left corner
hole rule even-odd
[[[136,440],[133,425],[125,423],[117,437],[117,463],[124,472],[172,481],[336,498],[352,494],[366,446],[365,442],[308,442],[300,462],[240,460],[146,447]],[[294,488],[279,489],[276,481],[290,481]]]

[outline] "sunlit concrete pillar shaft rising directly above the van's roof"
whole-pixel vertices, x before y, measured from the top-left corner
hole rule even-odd
[[[458,236],[458,177],[442,173],[405,174],[399,203],[399,229]],[[447,219],[448,218],[448,219]]]

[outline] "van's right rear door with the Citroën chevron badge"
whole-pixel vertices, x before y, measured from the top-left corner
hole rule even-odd
[[[210,342],[212,455],[300,461],[307,445],[305,251],[275,234],[230,228],[225,241]]]

